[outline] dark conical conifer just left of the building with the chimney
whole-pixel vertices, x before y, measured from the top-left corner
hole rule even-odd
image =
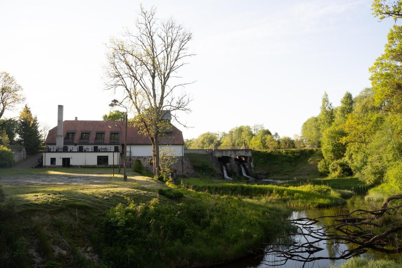
[[[39,124],[36,116],[32,115],[31,109],[25,105],[20,113],[18,124],[18,144],[25,146],[28,155],[35,154],[40,150],[43,139],[39,133]]]

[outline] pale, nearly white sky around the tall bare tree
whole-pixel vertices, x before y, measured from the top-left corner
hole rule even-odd
[[[23,86],[39,122],[56,126],[58,104],[64,120],[109,112],[121,96],[103,90],[105,43],[133,29],[140,2],[0,0],[0,71]],[[193,126],[179,126],[185,138],[252,124],[299,133],[324,91],[337,106],[370,86],[393,24],[371,15],[370,0],[142,2],[193,32],[197,56],[180,72],[197,81],[187,87],[192,113],[180,116]]]

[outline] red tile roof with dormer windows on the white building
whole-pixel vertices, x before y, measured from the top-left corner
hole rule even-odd
[[[79,142],[81,132],[90,132],[89,141],[84,142],[84,144],[94,144],[96,132],[105,132],[105,140],[100,144],[116,144],[116,142],[109,142],[110,132],[120,132],[120,128],[114,126],[114,124],[121,127],[121,143],[124,144],[125,122],[122,121],[66,120],[63,122],[63,135],[66,136],[66,132],[75,132],[74,141],[69,142],[69,144],[82,144],[83,142]],[[109,125],[112,127],[109,128]],[[183,133],[175,126],[172,127],[172,136],[160,137],[160,144],[184,144]],[[56,135],[57,126],[49,130],[45,144],[56,144]],[[151,144],[151,142],[147,136],[138,134],[138,128],[130,127],[129,125],[127,128],[127,144]]]

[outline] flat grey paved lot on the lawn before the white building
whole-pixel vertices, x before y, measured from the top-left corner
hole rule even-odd
[[[3,185],[107,184],[109,175],[29,174],[0,176]]]

